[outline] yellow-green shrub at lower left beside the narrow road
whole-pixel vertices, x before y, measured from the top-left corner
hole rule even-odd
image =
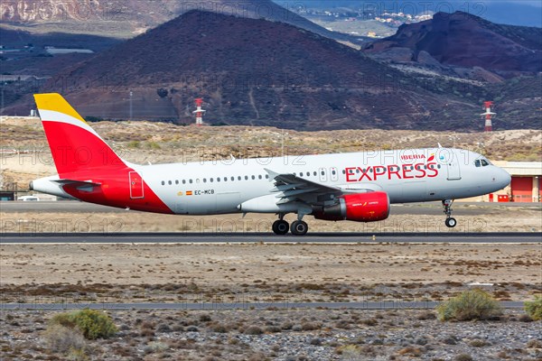
[[[110,338],[117,333],[117,326],[107,314],[98,310],[78,310],[60,313],[51,319],[51,325],[79,329],[85,338]]]

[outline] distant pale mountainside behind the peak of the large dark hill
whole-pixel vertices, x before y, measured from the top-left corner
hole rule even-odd
[[[343,42],[358,42],[348,34],[331,32],[295,13],[295,4],[286,7],[271,0],[17,0],[0,2],[3,23],[17,23],[32,30],[92,33],[130,38],[193,10],[240,18],[290,23],[310,32]],[[28,26],[31,25],[31,26]]]

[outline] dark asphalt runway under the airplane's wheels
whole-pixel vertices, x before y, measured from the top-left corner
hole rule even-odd
[[[115,233],[115,234],[18,234],[0,235],[7,244],[379,244],[468,243],[542,244],[540,233],[309,233],[276,236],[272,233]]]

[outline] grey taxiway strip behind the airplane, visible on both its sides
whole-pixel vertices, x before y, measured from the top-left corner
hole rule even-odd
[[[481,202],[455,202],[453,214],[479,215],[485,214],[491,209],[500,207],[529,207],[541,208],[542,203],[481,203]],[[35,213],[122,213],[125,209],[100,206],[97,204],[83,203],[77,200],[61,201],[0,201],[0,210],[6,213],[35,212]],[[410,215],[442,215],[443,207],[440,202],[407,203],[391,205],[391,214]]]

